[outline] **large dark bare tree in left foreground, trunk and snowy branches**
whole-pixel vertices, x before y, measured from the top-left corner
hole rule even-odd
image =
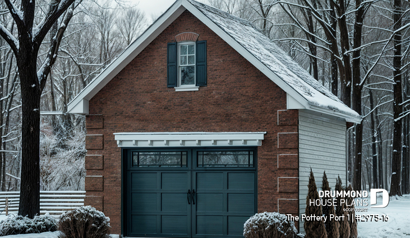
[[[17,28],[17,38],[0,24],[0,35],[16,57],[22,96],[22,165],[21,192],[18,214],[33,218],[40,212],[40,96],[55,62],[58,48],[79,2],[51,0],[41,21],[34,26],[35,0],[22,0],[20,7],[5,0],[8,14]],[[41,12],[41,11],[40,11]],[[62,20],[59,21],[60,16]],[[49,44],[46,59],[37,69],[38,52],[51,27],[58,21],[58,30]]]

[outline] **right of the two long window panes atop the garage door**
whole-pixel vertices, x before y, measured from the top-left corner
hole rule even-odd
[[[197,167],[253,167],[253,151],[198,151]]]

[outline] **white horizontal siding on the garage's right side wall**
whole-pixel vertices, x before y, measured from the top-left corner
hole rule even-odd
[[[313,171],[316,186],[322,187],[326,171],[331,189],[339,175],[346,182],[346,122],[319,115],[312,111],[299,110],[299,212],[305,213],[310,171]],[[300,232],[303,232],[300,222]]]

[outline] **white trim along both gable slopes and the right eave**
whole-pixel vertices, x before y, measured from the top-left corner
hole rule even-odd
[[[96,79],[85,87],[82,92],[76,96],[68,104],[68,113],[87,114],[87,111],[74,111],[77,104],[84,98],[90,100],[94,95],[98,93],[111,79],[115,77],[128,63],[131,62],[144,48],[151,43],[161,32],[165,30],[184,10],[188,10],[194,16],[196,16],[202,23],[209,27],[219,37],[221,37],[226,43],[234,48],[239,54],[241,54],[248,62],[252,63],[258,68],[266,77],[271,79],[277,84],[283,91],[291,95],[300,105],[300,108],[306,108],[312,111],[320,111],[322,113],[336,115],[344,118],[348,122],[360,123],[361,119],[356,118],[345,113],[336,112],[328,108],[318,108],[311,105],[306,98],[300,95],[289,84],[280,79],[272,70],[259,61],[253,54],[246,50],[236,40],[234,40],[227,32],[223,31],[217,26],[211,19],[205,16],[194,5],[187,0],[177,0],[157,21],[152,24],[146,32],[144,32],[136,41],[134,41],[117,59],[115,59]],[[331,100],[331,99],[329,99]],[[88,105],[87,105],[88,106]],[[87,107],[88,109],[88,107]]]

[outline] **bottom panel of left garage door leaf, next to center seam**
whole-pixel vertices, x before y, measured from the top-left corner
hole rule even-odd
[[[162,216],[161,233],[188,235],[187,216]]]

